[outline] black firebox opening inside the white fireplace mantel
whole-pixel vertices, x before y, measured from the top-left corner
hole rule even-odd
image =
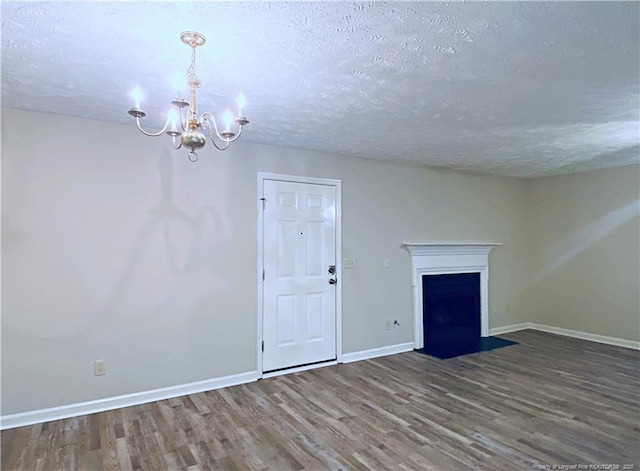
[[[480,273],[422,277],[424,351],[439,358],[478,351]]]

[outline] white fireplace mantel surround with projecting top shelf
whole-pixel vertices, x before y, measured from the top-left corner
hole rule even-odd
[[[496,242],[404,242],[411,254],[414,348],[424,347],[422,277],[480,273],[480,335],[489,335],[489,252]]]

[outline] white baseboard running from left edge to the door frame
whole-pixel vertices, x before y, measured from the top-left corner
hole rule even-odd
[[[250,371],[247,373],[223,376],[205,381],[197,381],[195,383],[169,386],[168,388],[153,389],[151,391],[107,397],[104,399],[97,399],[95,401],[80,402],[66,406],[51,407],[49,409],[5,415],[0,417],[0,430],[49,422],[51,420],[68,419],[79,415],[95,414],[96,412],[103,412],[106,410],[120,409],[122,407],[136,406],[139,404],[146,404],[148,402],[161,401],[163,399],[171,399],[188,394],[196,394],[204,391],[236,386],[238,384],[257,381],[258,378],[259,374],[257,371]]]

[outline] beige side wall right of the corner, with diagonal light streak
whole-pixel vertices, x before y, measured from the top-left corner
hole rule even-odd
[[[640,341],[640,166],[528,182],[530,322]]]

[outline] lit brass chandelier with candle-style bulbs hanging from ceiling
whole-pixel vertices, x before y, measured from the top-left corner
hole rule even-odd
[[[176,91],[176,98],[171,101],[175,107],[169,112],[164,127],[158,132],[148,132],[140,126],[140,118],[144,118],[147,114],[140,108],[142,100],[142,90],[136,87],[132,96],[135,101],[133,108],[129,110],[129,114],[136,119],[136,125],[140,132],[145,136],[157,137],[162,134],[168,134],[173,141],[173,147],[180,149],[182,146],[191,149],[189,152],[189,160],[195,162],[198,160],[196,150],[207,143],[205,133],[213,145],[219,150],[226,150],[229,144],[240,137],[242,127],[249,124],[249,120],[243,115],[243,108],[246,104],[244,95],[241,93],[236,101],[238,105],[238,115],[234,118],[230,111],[226,111],[223,115],[224,129],[220,131],[214,116],[205,111],[198,117],[198,102],[196,93],[200,86],[200,80],[196,75],[196,48],[202,46],[206,42],[204,35],[193,31],[185,31],[180,34],[180,39],[187,46],[191,47],[191,64],[187,69],[187,84],[189,85],[189,101],[186,101],[181,95],[182,92]],[[179,87],[177,87],[179,88]],[[183,111],[187,108],[186,112]],[[235,130],[232,124],[235,123]]]

